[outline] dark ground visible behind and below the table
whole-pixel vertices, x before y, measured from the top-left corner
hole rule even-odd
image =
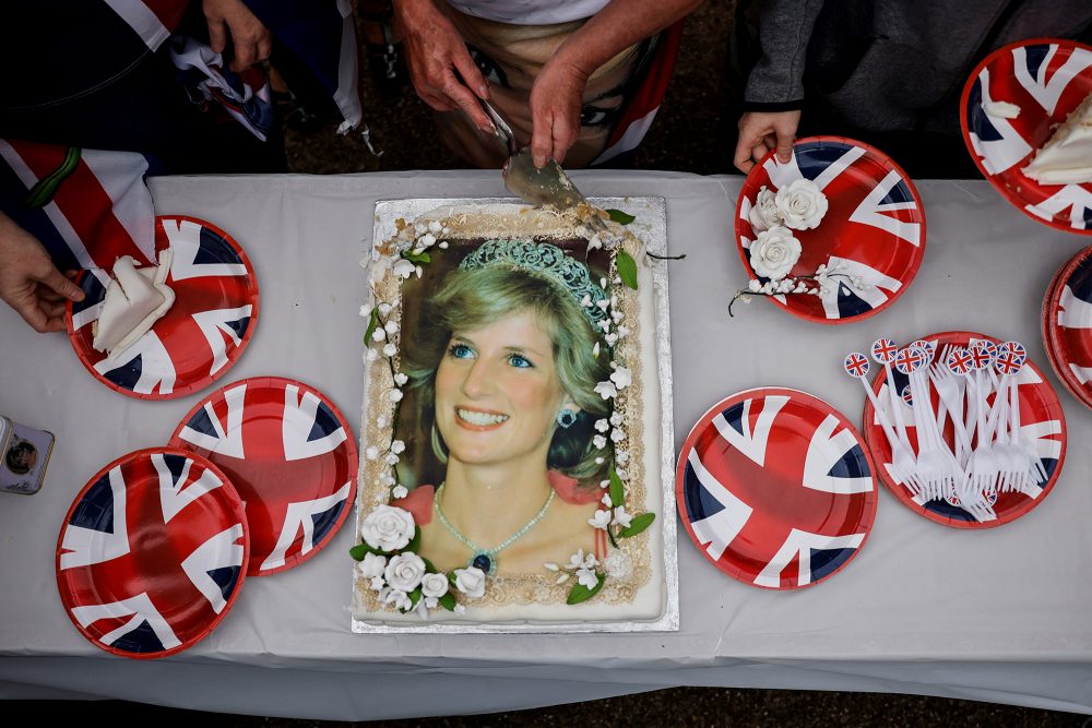
[[[733,0],[709,0],[687,22],[675,76],[662,110],[638,152],[633,166],[697,174],[734,171],[725,130],[729,96],[728,36]],[[297,172],[341,174],[393,169],[452,169],[459,160],[432,133],[429,109],[408,84],[380,89],[367,69],[361,72],[365,120],[371,139],[382,150],[372,155],[358,134],[339,136],[336,123],[324,121],[307,130],[286,130],[289,167]],[[734,123],[734,120],[732,120]],[[346,634],[346,640],[359,637]],[[319,720],[289,720],[251,716],[211,715],[193,711],[104,701],[100,703],[14,701],[38,715],[98,723],[123,715],[126,723],[200,721],[221,726],[304,727],[348,726]],[[972,701],[875,693],[804,692],[676,688],[627,697],[559,705],[518,713],[455,716],[414,720],[383,720],[377,728],[455,728],[461,726],[1092,726],[1082,715],[993,705]]]

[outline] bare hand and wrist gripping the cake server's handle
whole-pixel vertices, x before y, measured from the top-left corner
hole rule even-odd
[[[489,86],[455,26],[434,0],[393,0],[393,4],[417,95],[437,111],[462,109],[478,129],[491,132],[492,122],[477,100],[489,98]]]

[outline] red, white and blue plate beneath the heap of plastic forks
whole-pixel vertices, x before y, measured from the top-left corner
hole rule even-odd
[[[981,334],[948,332],[926,337],[925,341],[928,343],[929,350],[934,355],[943,351],[946,345],[949,344],[954,347],[962,347],[954,348],[949,353],[948,361],[951,362],[954,370],[965,371],[971,375],[974,374],[974,370],[978,366],[992,367],[992,363],[986,362],[993,362],[994,356],[998,353],[1004,355],[1009,351],[1009,349],[998,347],[997,343],[983,338]],[[990,355],[990,351],[993,351],[993,355]],[[1019,358],[1019,356],[1016,355],[1014,358]],[[898,368],[892,369],[891,374],[894,379],[897,392],[902,392],[910,384],[910,378],[899,371]],[[988,381],[987,372],[983,372],[982,375]],[[863,434],[871,450],[877,467],[882,474],[881,477],[889,486],[891,492],[903,503],[918,511],[927,518],[958,528],[989,528],[998,526],[1020,517],[1041,502],[1043,494],[1053,488],[1065,458],[1067,439],[1065,415],[1054,389],[1049,382],[1043,379],[1042,373],[1030,361],[1025,361],[1024,367],[1020,370],[1019,374],[1012,378],[1012,381],[1017,386],[1020,398],[1020,431],[1024,439],[1035,447],[1043,463],[1043,468],[1046,470],[1047,482],[1040,484],[1037,488],[1030,488],[1031,496],[1016,490],[999,493],[995,508],[997,513],[996,521],[978,522],[970,513],[949,500],[925,501],[919,496],[912,496],[909,490],[890,475],[891,445],[883,434],[879,418],[873,411],[871,416],[865,422]],[[889,419],[892,418],[893,413],[889,411],[890,401],[887,391],[887,375],[883,371],[877,374],[874,387],[877,392],[878,402],[885,408],[885,411],[887,411]],[[992,405],[994,395],[990,394],[987,401]],[[933,387],[929,402],[933,411],[938,411],[939,402],[939,394]],[[866,406],[866,411],[870,411],[868,407],[870,405]],[[961,417],[963,415],[964,413],[960,413]],[[910,406],[903,407],[902,419],[906,426],[906,437],[910,440],[911,447],[914,452],[917,452],[917,428],[914,419],[914,410]],[[949,421],[945,430],[945,437],[949,444],[954,441],[954,431],[952,428],[953,426]]]

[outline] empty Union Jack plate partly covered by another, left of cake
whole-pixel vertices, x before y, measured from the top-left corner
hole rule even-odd
[[[209,458],[239,491],[251,576],[313,557],[354,502],[352,428],[324,394],[290,379],[245,379],[216,390],[182,419],[170,445]]]

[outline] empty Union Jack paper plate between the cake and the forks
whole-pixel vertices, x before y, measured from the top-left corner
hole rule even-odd
[[[876,478],[853,425],[781,387],[733,394],[679,454],[675,493],[702,554],[740,582],[793,589],[855,557],[876,517]]]

